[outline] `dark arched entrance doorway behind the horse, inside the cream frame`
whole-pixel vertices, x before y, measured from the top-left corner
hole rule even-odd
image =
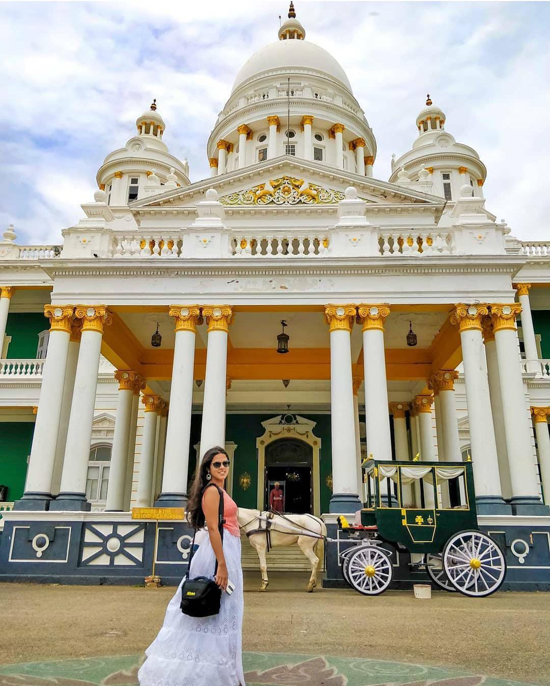
[[[296,438],[281,438],[265,447],[263,507],[270,509],[275,482],[283,490],[285,512],[313,514],[313,448]]]

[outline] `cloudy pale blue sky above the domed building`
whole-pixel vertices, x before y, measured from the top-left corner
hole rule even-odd
[[[0,228],[58,243],[95,173],[157,98],[172,154],[208,176],[206,140],[241,64],[287,0],[0,3]],[[296,0],[307,40],[348,73],[374,130],[374,176],[409,150],[429,91],[488,168],[487,207],[550,239],[550,5]]]

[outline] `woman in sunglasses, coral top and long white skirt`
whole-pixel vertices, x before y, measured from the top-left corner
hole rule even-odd
[[[180,610],[181,584],[169,602],[158,636],[145,650],[141,665],[141,686],[245,686],[242,663],[243,571],[237,505],[224,494],[224,543],[218,529],[219,490],[229,471],[229,456],[223,448],[206,451],[200,464],[187,519],[196,528],[208,528],[193,555],[190,578],[214,578],[222,589],[222,606],[212,617],[189,617]],[[204,490],[206,488],[206,490]],[[203,493],[204,492],[204,493]],[[206,522],[205,522],[206,519]],[[217,573],[214,568],[217,560]],[[224,593],[227,582],[235,585]]]

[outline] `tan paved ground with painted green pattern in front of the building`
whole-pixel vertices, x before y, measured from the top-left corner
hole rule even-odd
[[[270,591],[257,593],[258,577],[247,574],[247,686],[550,686],[550,593],[365,598],[351,589],[304,593],[306,578],[272,573]],[[10,665],[0,667],[0,686],[136,684],[133,667],[173,593],[0,584],[0,663]]]

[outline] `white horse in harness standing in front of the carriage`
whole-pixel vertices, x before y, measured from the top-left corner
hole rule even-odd
[[[267,537],[265,535],[266,515],[267,512],[247,510],[246,508],[239,508],[239,514],[237,515],[239,526],[246,534],[250,534],[248,540],[250,545],[256,548],[260,559],[262,584],[259,591],[267,591],[267,584],[269,583],[267,563],[265,561],[265,554],[267,552]],[[250,533],[256,532],[259,528],[262,528],[264,531]],[[300,535],[299,530],[312,532],[315,536],[319,536],[319,538]],[[285,514],[284,517],[274,514],[273,519],[270,519],[270,547],[275,548],[298,543],[300,550],[311,563],[311,576],[307,584],[308,593],[311,593],[315,586],[317,586],[317,570],[320,560],[315,555],[315,547],[321,536],[326,536],[326,526],[322,519],[313,517],[313,514]]]

